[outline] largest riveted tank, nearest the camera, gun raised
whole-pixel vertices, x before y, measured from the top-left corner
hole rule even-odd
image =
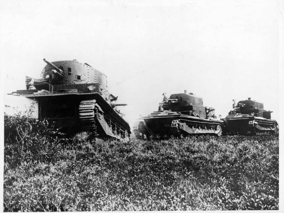
[[[118,96],[107,90],[107,77],[77,60],[46,62],[41,79],[26,77],[26,89],[15,96],[38,103],[38,119],[48,119],[66,133],[89,132],[93,137],[129,137]]]

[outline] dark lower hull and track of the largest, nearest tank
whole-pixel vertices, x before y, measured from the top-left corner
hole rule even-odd
[[[86,131],[92,136],[117,139],[130,134],[128,122],[98,92],[52,94],[45,90],[33,93],[23,90],[13,94],[36,100],[38,118],[46,118],[66,133]]]

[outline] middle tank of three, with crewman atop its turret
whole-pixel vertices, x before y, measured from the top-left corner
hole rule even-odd
[[[164,94],[163,94],[164,95]],[[222,135],[222,121],[214,108],[203,106],[203,99],[193,93],[164,96],[158,111],[139,118],[133,132],[136,138],[186,137],[189,135]]]

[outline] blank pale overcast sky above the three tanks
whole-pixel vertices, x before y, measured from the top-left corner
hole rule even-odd
[[[278,120],[282,6],[272,0],[1,0],[1,89],[25,89],[25,75],[40,78],[43,58],[77,59],[108,76],[108,90],[128,104],[120,109],[130,126],[158,109],[163,92],[185,89],[222,117],[232,99],[251,97]]]

